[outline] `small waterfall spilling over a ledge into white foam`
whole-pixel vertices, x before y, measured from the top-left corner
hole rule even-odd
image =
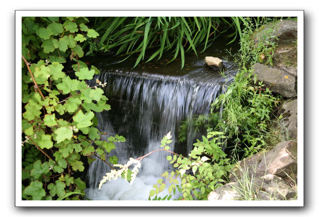
[[[222,85],[231,79],[204,66],[203,58],[186,58],[185,63],[187,60],[191,66],[185,66],[182,71],[175,71],[180,67],[179,61],[170,65],[141,63],[134,71],[128,68],[134,65],[134,60],[127,63],[128,67],[101,60],[94,64],[101,70],[96,78],[108,83],[104,91],[111,105],[111,110],[97,114],[99,130],[108,133],[102,135],[101,140],[115,134],[126,138],[126,142],[117,144],[115,151],[110,153],[110,156],[118,157],[118,163],[125,164],[130,157],[137,158],[159,149],[160,140],[169,131],[174,140],[170,144],[171,150],[187,156],[196,139],[205,134],[196,131],[190,120],[198,115],[208,115],[211,102],[222,91]],[[234,65],[228,61],[223,70],[230,77],[236,73]],[[171,71],[173,75],[170,75]],[[188,122],[185,141],[179,142],[183,121]],[[87,197],[93,200],[146,200],[160,174],[173,170],[166,160],[167,155],[167,152],[159,151],[144,158],[132,185],[117,179],[104,183],[100,190],[100,180],[110,168],[97,159],[87,173]],[[167,194],[164,190],[159,196]]]

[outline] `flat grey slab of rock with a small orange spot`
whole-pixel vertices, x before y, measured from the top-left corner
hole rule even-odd
[[[256,63],[253,67],[257,80],[263,81],[266,87],[284,97],[293,97],[295,91],[295,77],[285,71],[269,68],[265,65]]]

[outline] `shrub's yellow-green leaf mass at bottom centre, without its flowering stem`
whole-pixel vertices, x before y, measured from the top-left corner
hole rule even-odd
[[[209,192],[223,185],[230,170],[229,160],[222,151],[220,140],[222,132],[209,132],[203,141],[197,140],[189,157],[173,153],[167,156],[167,160],[175,171],[165,171],[150,191],[150,198],[168,189],[169,196],[179,191],[182,196],[178,200],[206,200]],[[165,137],[162,142],[165,142]],[[161,143],[162,143],[161,142]],[[189,171],[189,172],[186,172]],[[169,197],[169,198],[170,198]],[[166,198],[166,197],[165,197]],[[155,198],[154,198],[155,199]]]

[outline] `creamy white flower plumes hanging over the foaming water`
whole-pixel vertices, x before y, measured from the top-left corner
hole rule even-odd
[[[103,179],[100,181],[99,189],[101,189],[103,183],[106,183],[106,181],[109,181],[111,179],[116,180],[118,177],[120,177],[122,175],[122,173],[125,173],[124,177],[125,177],[125,180],[127,180],[128,169],[133,163],[135,163],[136,165],[132,169],[131,182],[130,182],[130,184],[132,184],[134,182],[134,179],[137,176],[138,168],[141,167],[141,162],[139,160],[135,160],[134,158],[130,158],[130,160],[124,165],[114,164],[113,166],[119,167],[122,169],[120,169],[120,170],[112,169],[109,173],[106,173],[105,174],[106,176],[103,176]]]

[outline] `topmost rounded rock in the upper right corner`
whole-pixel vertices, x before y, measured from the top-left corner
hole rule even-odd
[[[258,31],[258,29],[257,29]],[[283,20],[274,24],[268,24],[261,31],[254,35],[254,43],[263,41],[275,41],[270,36],[277,36],[278,45],[290,44],[297,40],[297,21],[295,20]]]

